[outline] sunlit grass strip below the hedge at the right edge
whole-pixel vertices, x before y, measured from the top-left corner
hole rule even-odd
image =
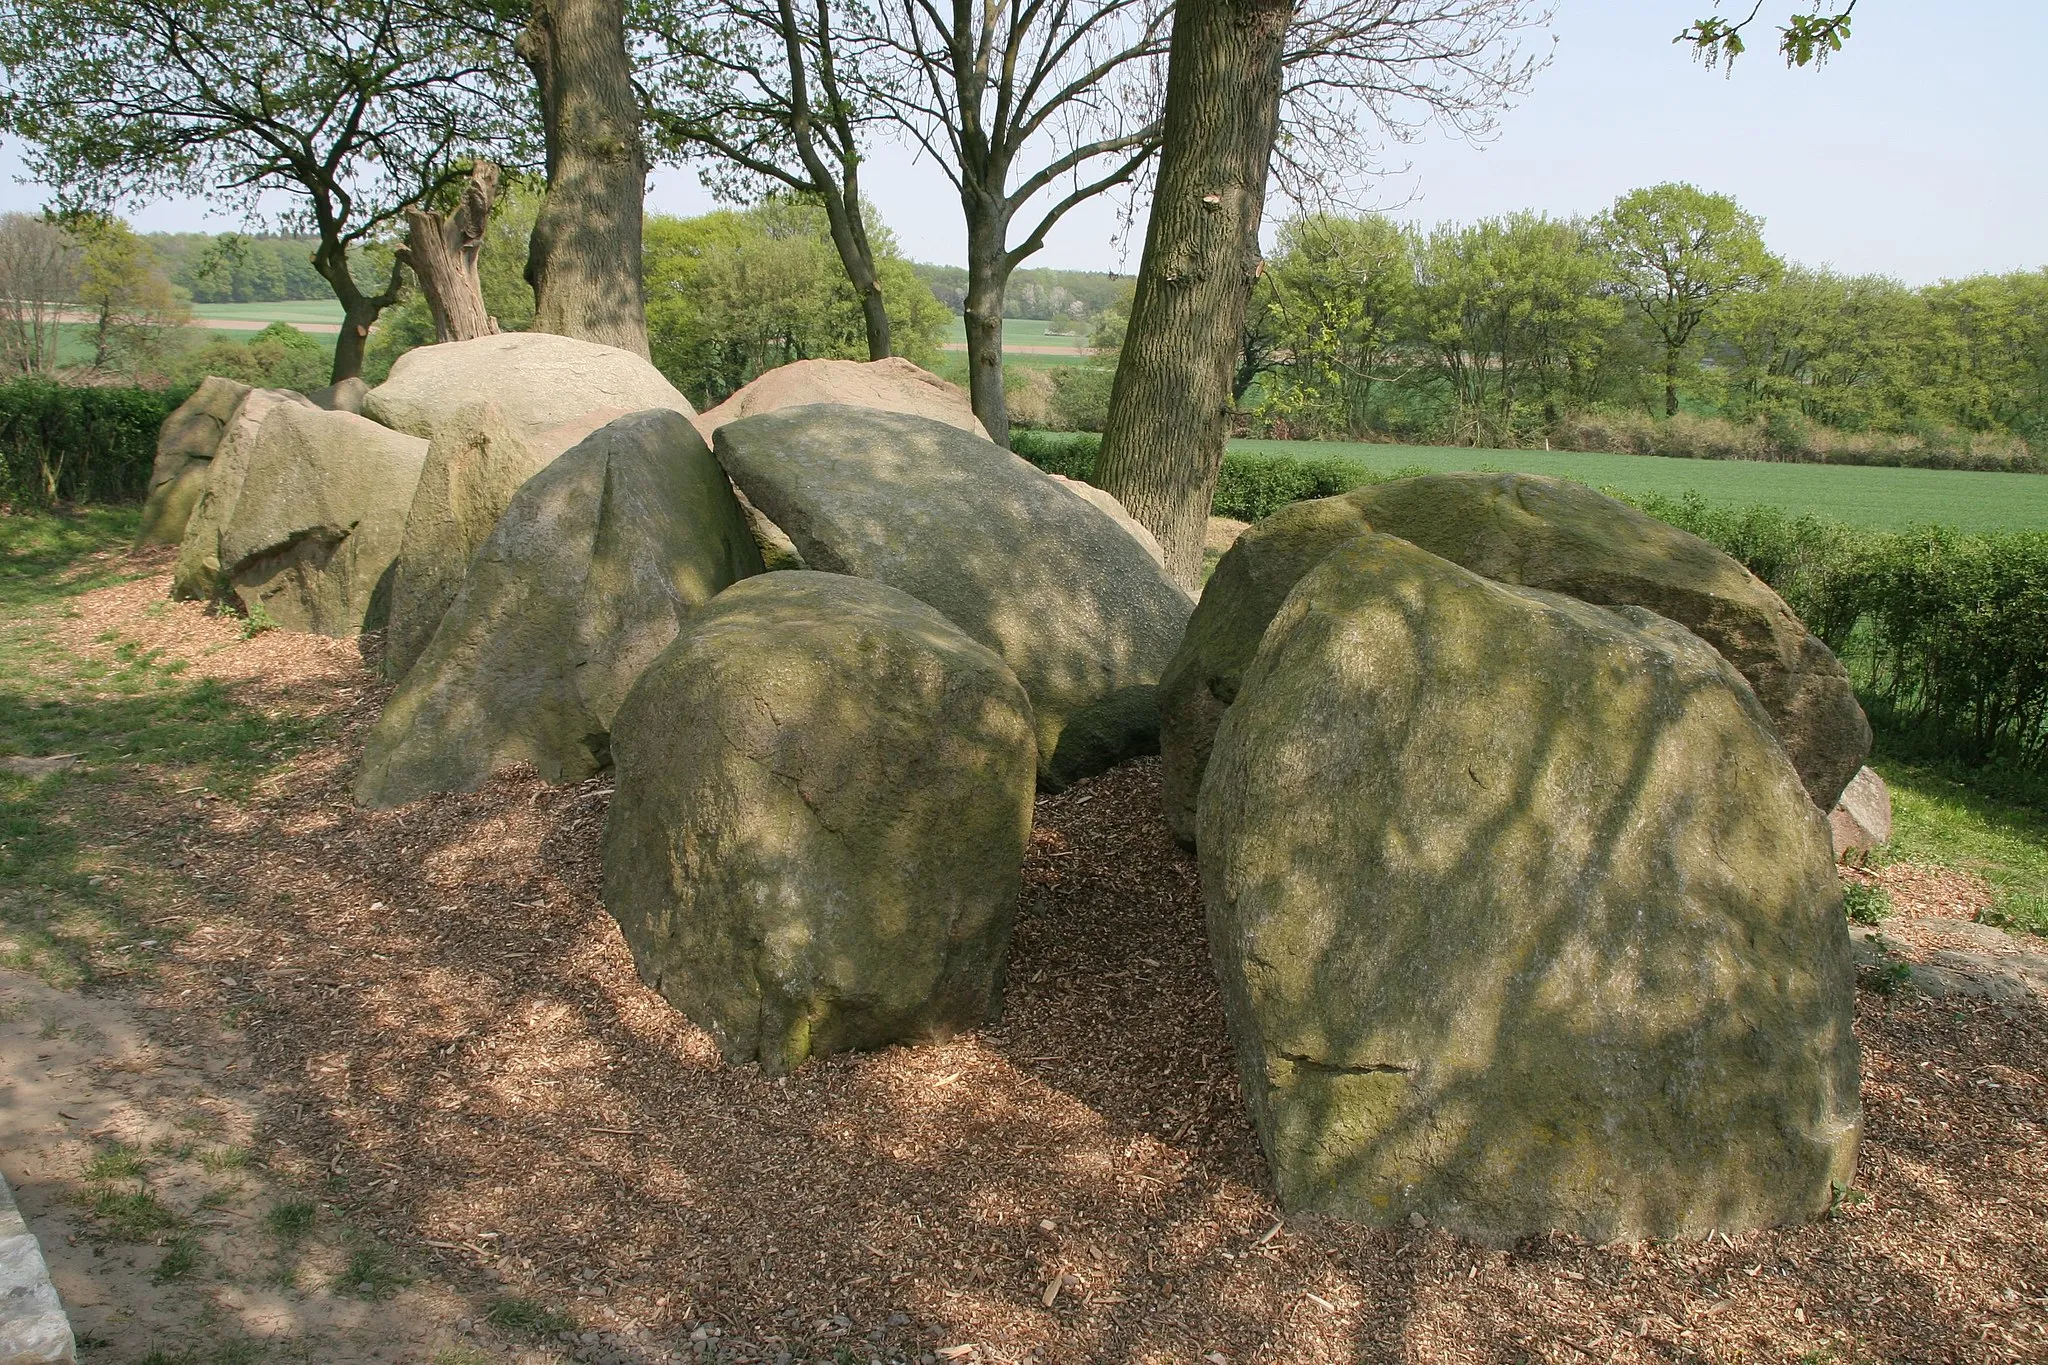
[[[2048,782],[1903,755],[1882,733],[1870,765],[1892,788],[1888,857],[1972,872],[1991,884],[1985,919],[2048,935]]]

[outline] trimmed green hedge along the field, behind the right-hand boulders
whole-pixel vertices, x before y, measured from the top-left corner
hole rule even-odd
[[[1092,436],[1030,432],[1016,446],[1071,479],[1096,471]],[[1401,475],[1233,452],[1223,456],[1212,510],[1255,522],[1382,477]],[[1698,493],[1608,493],[1710,540],[1776,587],[1888,722],[1968,761],[2048,767],[2048,532],[1884,532],[1767,505],[1712,505]]]

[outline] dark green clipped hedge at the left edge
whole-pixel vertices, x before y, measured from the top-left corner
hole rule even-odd
[[[47,508],[145,495],[156,432],[190,393],[47,379],[0,385],[0,501]]]

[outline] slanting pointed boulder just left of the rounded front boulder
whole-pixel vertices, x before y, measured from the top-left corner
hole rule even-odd
[[[578,782],[610,759],[633,679],[729,583],[760,573],[688,417],[618,417],[530,477],[362,751],[356,800],[467,792],[516,763]]]

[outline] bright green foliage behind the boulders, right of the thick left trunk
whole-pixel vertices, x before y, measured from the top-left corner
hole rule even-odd
[[[930,364],[946,311],[879,225],[872,244],[897,350]],[[649,217],[645,278],[653,362],[698,405],[778,364],[868,354],[862,301],[817,203]]]

